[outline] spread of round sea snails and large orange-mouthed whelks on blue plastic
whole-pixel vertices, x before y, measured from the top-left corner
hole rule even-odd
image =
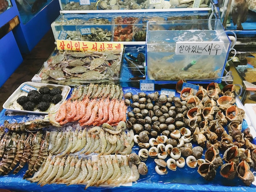
[[[179,93],[180,97],[158,92],[124,94],[130,106],[126,124],[135,132],[140,161],[154,158],[160,175],[185,165],[197,167],[207,181],[215,178],[220,167],[224,178],[238,177],[251,185],[256,145],[249,128],[242,129],[245,111],[235,104],[235,85],[220,89],[218,83],[210,83],[196,93],[193,88]]]

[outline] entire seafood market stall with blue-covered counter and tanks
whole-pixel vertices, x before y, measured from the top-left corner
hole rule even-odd
[[[209,2],[60,5],[56,49],[0,112],[0,188],[256,190],[256,127],[226,79],[234,45]],[[130,8],[147,11],[117,11]]]

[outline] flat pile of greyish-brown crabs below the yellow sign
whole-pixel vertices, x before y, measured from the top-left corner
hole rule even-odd
[[[115,80],[121,69],[121,50],[63,51],[51,56],[41,71],[43,80]]]

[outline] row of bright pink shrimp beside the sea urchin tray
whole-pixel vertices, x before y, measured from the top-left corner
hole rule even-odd
[[[119,99],[66,100],[59,108],[55,120],[61,125],[78,121],[81,126],[102,125],[108,123],[116,125],[126,121],[126,105]]]

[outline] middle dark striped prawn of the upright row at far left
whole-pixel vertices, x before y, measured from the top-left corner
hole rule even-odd
[[[34,137],[34,135],[31,133],[27,136],[26,141],[25,141],[24,151],[23,151],[22,157],[20,159],[20,164],[18,165],[18,167],[15,168],[15,170],[13,170],[13,174],[17,174],[20,171],[20,169],[22,169],[22,167],[24,167],[24,165],[28,161],[28,159],[31,155],[31,145],[32,145],[33,137]]]

